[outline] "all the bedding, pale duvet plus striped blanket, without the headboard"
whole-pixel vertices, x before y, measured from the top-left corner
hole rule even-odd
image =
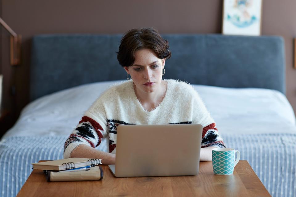
[[[31,173],[31,163],[61,159],[64,142],[84,111],[116,82],[81,85],[28,104],[0,141],[0,196],[18,193]],[[241,152],[269,193],[296,196],[296,119],[286,96],[260,88],[193,87],[227,147]]]

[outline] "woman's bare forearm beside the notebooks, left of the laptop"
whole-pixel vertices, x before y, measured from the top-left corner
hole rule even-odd
[[[115,164],[115,154],[98,151],[86,144],[80,144],[70,154],[70,157],[102,159],[102,164]]]

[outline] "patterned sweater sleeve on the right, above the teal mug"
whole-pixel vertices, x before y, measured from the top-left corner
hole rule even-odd
[[[194,124],[203,125],[203,134],[201,140],[201,147],[225,147],[224,141],[220,136],[216,123],[212,119],[209,111],[207,110],[204,102],[199,94],[194,90],[193,93],[193,121]]]

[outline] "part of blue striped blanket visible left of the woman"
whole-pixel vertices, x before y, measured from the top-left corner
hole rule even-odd
[[[67,136],[8,137],[0,142],[0,196],[16,196],[31,174],[31,163],[63,158]]]

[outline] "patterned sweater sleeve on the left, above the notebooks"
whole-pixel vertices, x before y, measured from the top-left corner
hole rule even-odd
[[[103,105],[96,101],[85,112],[76,129],[72,131],[64,144],[64,158],[69,158],[71,152],[80,144],[97,147],[107,135],[107,122]]]

